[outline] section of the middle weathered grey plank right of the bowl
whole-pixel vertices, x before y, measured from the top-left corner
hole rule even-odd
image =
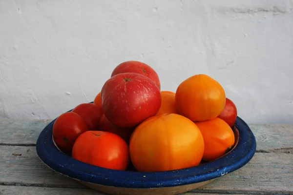
[[[292,162],[293,154],[256,153],[244,167],[223,178],[215,179],[202,189],[293,194]]]

